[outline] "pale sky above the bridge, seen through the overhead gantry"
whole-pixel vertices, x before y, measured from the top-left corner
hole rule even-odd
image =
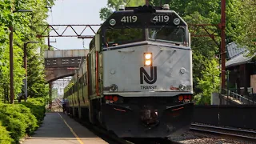
[[[106,6],[106,2],[107,0],[56,0],[55,5],[51,9],[52,12],[49,12],[47,22],[54,25],[101,24],[102,20],[99,18],[99,10]],[[94,26],[93,28],[96,31],[98,30],[98,27],[99,26]],[[66,26],[54,26],[54,28],[58,29],[58,34],[62,34],[62,31]],[[83,28],[84,26],[76,26],[74,27],[74,30],[80,34]],[[88,28],[86,28],[82,35],[94,34]],[[74,34],[74,32],[69,28],[63,35],[67,34]],[[56,34],[51,32],[50,35]],[[86,49],[89,48],[90,40],[91,39],[84,39],[84,46]],[[83,49],[82,39],[78,39],[76,37],[50,38],[50,45],[60,50]]]

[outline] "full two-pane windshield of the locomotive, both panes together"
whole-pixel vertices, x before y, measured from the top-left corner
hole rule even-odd
[[[109,28],[105,31],[105,47],[145,41],[186,45],[186,26],[153,26],[149,28]]]

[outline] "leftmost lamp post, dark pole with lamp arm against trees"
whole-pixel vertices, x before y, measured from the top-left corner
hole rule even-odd
[[[12,13],[16,12],[32,12],[32,10],[14,10]],[[10,104],[14,104],[14,47],[13,47],[13,39],[14,39],[14,27],[12,23],[9,26],[10,29]]]

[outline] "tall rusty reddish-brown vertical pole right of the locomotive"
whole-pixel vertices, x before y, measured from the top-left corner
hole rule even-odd
[[[222,58],[222,90],[226,87],[226,36],[225,36],[225,28],[226,28],[226,0],[222,0],[222,18],[221,18],[221,58]]]

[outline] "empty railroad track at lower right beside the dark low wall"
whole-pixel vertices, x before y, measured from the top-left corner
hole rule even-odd
[[[209,134],[218,134],[225,138],[237,138],[241,140],[246,140],[248,142],[256,142],[256,131],[252,130],[241,130],[229,127],[209,126],[196,123],[191,124],[190,130],[205,132]]]

